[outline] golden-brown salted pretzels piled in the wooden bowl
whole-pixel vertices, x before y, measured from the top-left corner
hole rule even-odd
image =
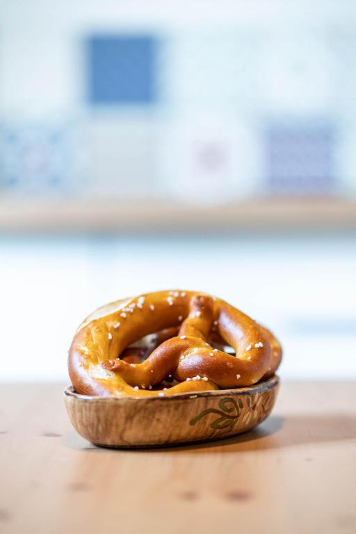
[[[76,332],[68,367],[81,394],[168,396],[253,385],[273,375],[281,358],[273,334],[227,302],[159,291],[89,316]]]

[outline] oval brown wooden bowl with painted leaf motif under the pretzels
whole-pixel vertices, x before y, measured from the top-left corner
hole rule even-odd
[[[165,398],[86,396],[72,386],[64,393],[72,425],[82,437],[95,445],[121,448],[199,442],[247,432],[268,417],[278,386],[275,375],[250,387]]]

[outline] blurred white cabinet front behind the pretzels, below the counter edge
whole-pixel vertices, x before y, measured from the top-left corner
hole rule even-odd
[[[288,378],[356,377],[356,238],[0,238],[2,380],[67,380],[67,349],[95,307],[201,289],[270,326]]]

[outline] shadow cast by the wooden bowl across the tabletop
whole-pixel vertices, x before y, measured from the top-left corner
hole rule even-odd
[[[293,414],[291,416],[272,415],[250,432],[232,437],[215,439],[210,442],[195,442],[170,446],[140,448],[106,448],[85,442],[74,430],[63,438],[65,446],[95,453],[120,452],[190,452],[231,453],[259,452],[287,448],[303,444],[316,444],[355,440],[356,420],[353,414]]]

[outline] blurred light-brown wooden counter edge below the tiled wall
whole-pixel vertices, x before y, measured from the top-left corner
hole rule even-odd
[[[283,232],[356,230],[356,200],[259,198],[193,205],[172,200],[0,201],[0,232]]]

